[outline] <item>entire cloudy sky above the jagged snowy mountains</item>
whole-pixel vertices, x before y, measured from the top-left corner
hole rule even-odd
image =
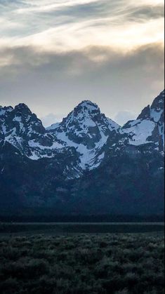
[[[164,0],[0,0],[0,105],[44,124],[81,100],[119,123],[164,88]]]

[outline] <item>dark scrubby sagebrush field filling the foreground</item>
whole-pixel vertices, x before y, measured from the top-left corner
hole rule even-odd
[[[160,232],[1,234],[0,260],[1,294],[164,293]]]

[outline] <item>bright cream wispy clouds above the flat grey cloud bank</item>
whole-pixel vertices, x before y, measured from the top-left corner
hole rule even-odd
[[[1,1],[1,46],[131,50],[163,42],[163,0]],[[130,42],[131,40],[131,42]]]

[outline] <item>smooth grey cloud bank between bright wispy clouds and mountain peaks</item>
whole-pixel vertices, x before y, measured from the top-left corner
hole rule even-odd
[[[138,115],[164,85],[159,44],[127,54],[101,46],[62,54],[34,48],[7,53],[13,55],[13,64],[0,69],[0,104],[25,102],[40,117],[50,110],[56,117],[67,114],[86,98],[112,119],[124,110]]]

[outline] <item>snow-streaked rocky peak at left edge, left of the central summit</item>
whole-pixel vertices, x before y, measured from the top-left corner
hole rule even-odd
[[[62,146],[54,144],[36,114],[25,104],[0,109],[1,141],[8,142],[29,159],[51,157]]]

